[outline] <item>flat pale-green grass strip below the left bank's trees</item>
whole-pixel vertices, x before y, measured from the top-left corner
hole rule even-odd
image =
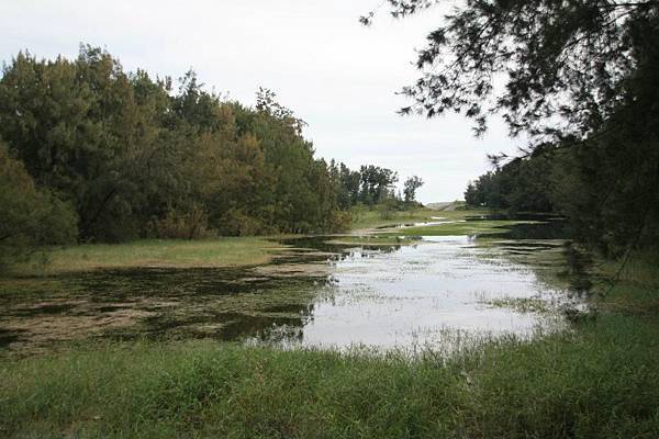
[[[145,239],[124,244],[85,244],[55,248],[13,267],[13,274],[56,274],[99,268],[216,268],[268,262],[282,246],[260,237],[208,240]]]

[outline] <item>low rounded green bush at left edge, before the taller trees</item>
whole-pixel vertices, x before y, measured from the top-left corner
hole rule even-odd
[[[0,269],[27,256],[37,246],[76,239],[71,209],[37,189],[23,164],[0,143]]]

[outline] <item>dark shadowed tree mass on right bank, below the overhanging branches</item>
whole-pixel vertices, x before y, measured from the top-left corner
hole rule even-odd
[[[536,148],[470,182],[465,200],[470,206],[563,215],[576,239],[612,256],[657,246],[659,145],[635,139],[646,135],[636,130],[648,130],[647,122],[578,147]]]

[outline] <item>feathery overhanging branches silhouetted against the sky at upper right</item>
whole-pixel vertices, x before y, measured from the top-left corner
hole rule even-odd
[[[403,18],[446,0],[387,0]],[[404,113],[463,113],[482,133],[503,113],[511,133],[583,137],[608,117],[651,47],[659,1],[472,0],[457,3],[427,36],[416,67],[423,76],[403,92]],[[370,23],[371,12],[361,19]],[[504,87],[495,87],[503,79]],[[559,130],[556,116],[566,125]]]

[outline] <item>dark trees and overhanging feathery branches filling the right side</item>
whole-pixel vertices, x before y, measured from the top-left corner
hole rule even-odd
[[[404,18],[446,2],[383,3]],[[659,241],[659,1],[456,2],[416,66],[403,113],[458,112],[477,134],[500,114],[530,138],[472,204],[561,212],[612,255]]]

